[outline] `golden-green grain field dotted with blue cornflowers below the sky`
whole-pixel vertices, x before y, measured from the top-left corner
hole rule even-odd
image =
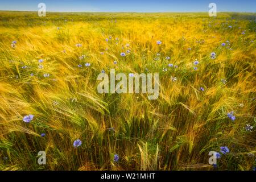
[[[252,170],[256,15],[217,15],[0,11],[0,170]],[[111,68],[158,100],[97,93]]]

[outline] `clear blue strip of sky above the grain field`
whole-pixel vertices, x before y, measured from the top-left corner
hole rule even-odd
[[[46,4],[47,11],[68,12],[206,12],[214,2],[217,11],[256,13],[256,0],[1,0],[0,10],[38,11],[40,2]]]

